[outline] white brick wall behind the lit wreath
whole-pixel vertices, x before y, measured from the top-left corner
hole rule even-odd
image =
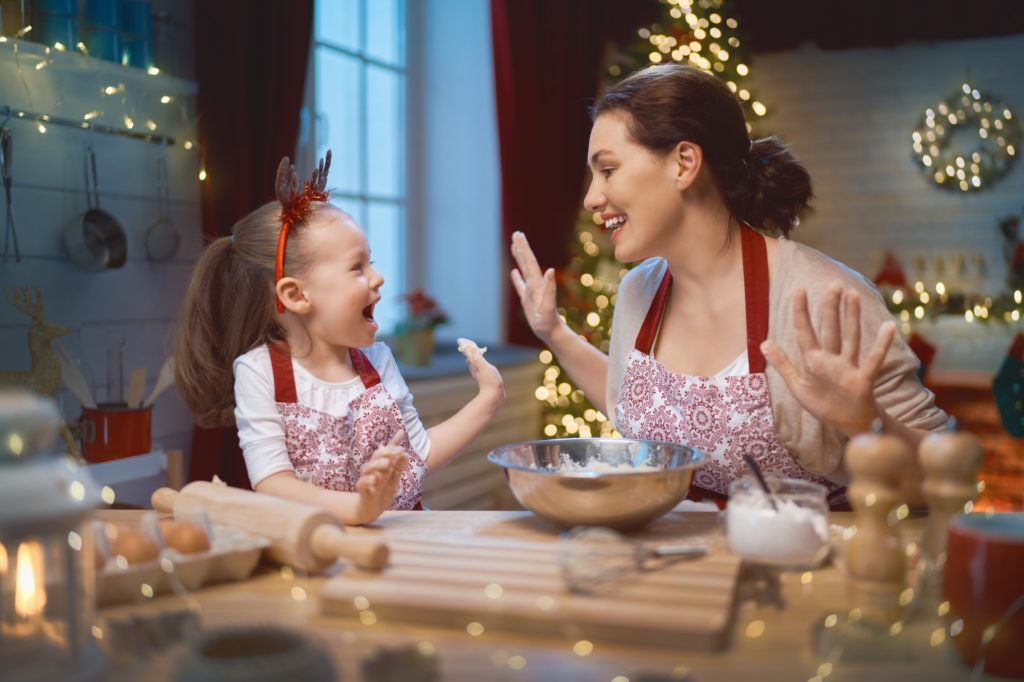
[[[751,91],[769,109],[760,131],[786,139],[814,180],[815,212],[794,239],[873,276],[886,251],[908,278],[975,291],[1005,287],[1004,240],[996,221],[1024,208],[1024,164],[987,190],[969,195],[927,180],[910,133],[929,106],[965,80],[1024,117],[1024,36],[825,52],[807,47],[756,55]],[[949,273],[954,255],[967,271]],[[979,274],[981,255],[987,272]],[[916,271],[914,259],[928,267]]]

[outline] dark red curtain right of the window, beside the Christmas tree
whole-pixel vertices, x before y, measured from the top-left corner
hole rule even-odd
[[[636,37],[655,2],[492,0],[505,243],[526,235],[542,267],[562,267],[582,205],[588,106],[605,44]],[[509,287],[508,340],[536,345]]]

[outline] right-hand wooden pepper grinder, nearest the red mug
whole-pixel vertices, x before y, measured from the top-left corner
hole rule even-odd
[[[928,500],[928,526],[922,551],[935,572],[946,563],[949,522],[978,497],[978,472],[985,455],[971,433],[956,431],[956,420],[946,430],[930,433],[921,441],[921,468],[925,473],[923,492]]]

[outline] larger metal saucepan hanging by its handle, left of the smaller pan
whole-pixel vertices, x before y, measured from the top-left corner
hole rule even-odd
[[[65,229],[68,252],[73,261],[87,270],[121,267],[128,259],[128,240],[114,216],[99,208],[96,155],[92,144],[87,147],[85,196],[88,208],[81,224],[73,221]]]

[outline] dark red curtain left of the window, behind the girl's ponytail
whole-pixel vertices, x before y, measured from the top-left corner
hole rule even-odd
[[[203,235],[212,240],[273,198],[283,156],[294,156],[312,35],[312,0],[196,0],[196,72]],[[249,487],[238,432],[193,434],[189,480],[214,474]]]

